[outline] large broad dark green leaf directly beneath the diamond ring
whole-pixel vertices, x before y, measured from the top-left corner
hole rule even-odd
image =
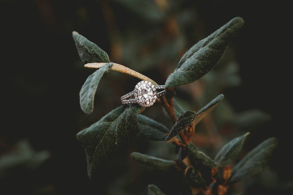
[[[120,106],[77,134],[85,149],[90,179],[135,139],[140,109],[136,104]]]

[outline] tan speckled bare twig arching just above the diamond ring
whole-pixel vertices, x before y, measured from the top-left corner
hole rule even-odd
[[[85,64],[85,67],[86,68],[101,68],[105,64],[107,64],[107,63],[104,63],[104,62],[103,63],[88,63],[88,64]],[[113,66],[110,68],[110,70],[114,70],[114,71],[117,71],[120,73],[128,74],[128,75],[134,76],[140,80],[150,81],[152,84],[158,85],[156,82],[151,80],[149,77],[144,76],[143,74],[140,74],[140,73],[138,73],[130,68],[127,68],[126,66],[123,66],[121,64],[113,63]]]

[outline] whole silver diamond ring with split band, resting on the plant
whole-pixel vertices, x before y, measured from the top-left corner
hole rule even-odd
[[[164,85],[153,85],[149,81],[140,81],[134,90],[121,97],[122,104],[138,103],[141,106],[149,107],[156,102],[156,99],[166,93]]]

